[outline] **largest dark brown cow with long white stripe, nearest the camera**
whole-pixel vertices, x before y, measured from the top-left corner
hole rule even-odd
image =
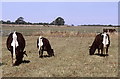
[[[25,48],[25,39],[23,35],[18,32],[10,33],[6,45],[7,49],[11,52],[13,66],[21,64],[23,55],[27,55],[25,53],[26,51],[23,51]]]

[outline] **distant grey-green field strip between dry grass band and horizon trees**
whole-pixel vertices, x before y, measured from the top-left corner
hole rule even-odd
[[[75,27],[64,27],[64,26],[42,26],[42,25],[31,25],[31,26],[12,26],[9,25],[4,26],[3,35],[8,35],[10,32],[18,31],[23,33],[24,35],[32,35],[35,33],[50,33],[50,32],[73,32],[73,33],[100,33],[103,31],[103,28],[113,28],[113,27],[100,27],[100,26],[75,26]],[[117,28],[115,28],[117,30]]]

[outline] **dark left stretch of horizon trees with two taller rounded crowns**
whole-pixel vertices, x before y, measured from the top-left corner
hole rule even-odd
[[[51,23],[42,23],[42,22],[41,23],[31,23],[31,22],[24,21],[23,17],[19,17],[15,20],[15,22],[11,22],[10,20],[7,20],[7,21],[1,20],[0,23],[2,23],[2,24],[30,24],[30,25],[64,25],[65,21],[62,17],[58,17]]]

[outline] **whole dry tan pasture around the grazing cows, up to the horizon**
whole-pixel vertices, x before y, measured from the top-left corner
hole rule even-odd
[[[3,77],[117,77],[118,34],[110,34],[109,56],[89,55],[89,45],[104,27],[46,27],[3,26],[2,65]],[[108,27],[111,28],[111,27]],[[117,28],[115,28],[117,30]],[[12,66],[11,54],[6,48],[7,35],[21,32],[26,40],[25,61]],[[38,57],[37,38],[49,39],[55,57]],[[97,51],[96,51],[97,53]],[[46,55],[46,52],[44,52]]]

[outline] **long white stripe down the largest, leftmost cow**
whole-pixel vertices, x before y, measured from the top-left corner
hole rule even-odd
[[[13,32],[12,38],[13,40],[12,40],[11,46],[13,46],[13,63],[15,63],[15,59],[16,59],[15,48],[18,46],[16,32]]]

